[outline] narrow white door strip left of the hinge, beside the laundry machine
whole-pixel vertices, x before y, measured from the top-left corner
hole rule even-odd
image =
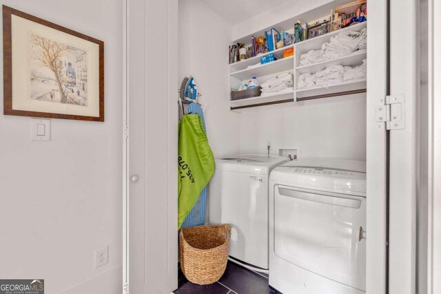
[[[384,107],[389,70],[387,25],[389,0],[367,1],[367,239],[366,291],[387,293],[387,130],[377,122]]]

